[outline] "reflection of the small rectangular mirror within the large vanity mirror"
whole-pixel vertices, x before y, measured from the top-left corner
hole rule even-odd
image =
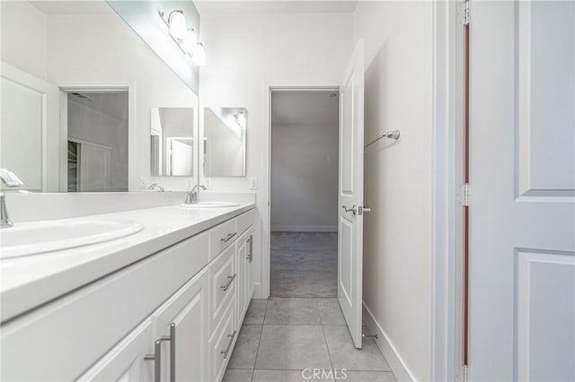
[[[150,175],[193,176],[194,109],[152,108]]]

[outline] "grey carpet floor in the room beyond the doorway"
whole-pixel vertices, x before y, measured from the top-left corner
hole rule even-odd
[[[337,297],[338,235],[271,232],[270,294]]]

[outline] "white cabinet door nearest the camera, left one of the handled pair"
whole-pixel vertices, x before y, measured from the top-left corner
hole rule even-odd
[[[151,381],[155,364],[153,360],[145,360],[144,357],[154,352],[152,332],[152,321],[148,318],[78,380]]]

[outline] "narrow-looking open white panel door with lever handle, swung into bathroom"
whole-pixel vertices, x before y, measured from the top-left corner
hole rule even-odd
[[[359,39],[340,84],[338,300],[356,348],[361,348],[363,282],[364,42]]]

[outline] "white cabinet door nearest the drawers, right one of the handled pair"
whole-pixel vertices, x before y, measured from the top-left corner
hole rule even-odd
[[[208,380],[208,270],[186,283],[152,315],[162,341],[162,380]]]

